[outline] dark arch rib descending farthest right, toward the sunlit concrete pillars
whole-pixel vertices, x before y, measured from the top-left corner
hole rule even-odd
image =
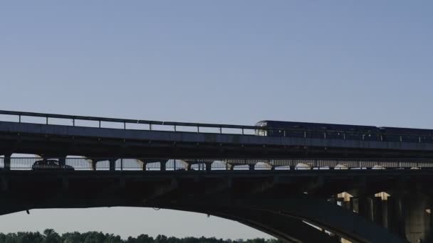
[[[152,203],[153,204],[153,203]],[[165,202],[155,203],[163,207]],[[244,198],[236,200],[224,200],[221,198],[200,198],[199,200],[179,199],[174,205],[184,207],[235,207],[239,209],[259,210],[273,215],[284,215],[305,220],[330,232],[335,232],[340,237],[352,242],[405,242],[395,234],[387,232],[385,228],[374,222],[369,222],[359,217],[354,212],[345,210],[338,205],[333,205],[326,200],[309,198],[308,195],[297,195],[287,198]]]

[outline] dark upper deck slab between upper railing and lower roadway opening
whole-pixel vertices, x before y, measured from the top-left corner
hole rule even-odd
[[[433,144],[304,139],[241,134],[108,129],[0,121],[0,153],[65,154],[93,157],[131,156],[300,156],[433,157]],[[189,151],[179,151],[185,148]]]

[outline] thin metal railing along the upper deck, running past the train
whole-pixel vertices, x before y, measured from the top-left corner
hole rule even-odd
[[[367,133],[360,131],[338,131],[326,130],[316,131],[311,129],[286,129],[286,128],[269,128],[264,126],[243,126],[231,124],[207,124],[207,123],[191,123],[177,121],[152,121],[141,119],[117,119],[107,117],[85,117],[65,114],[47,114],[36,112],[14,112],[0,110],[1,115],[16,117],[16,122],[23,123],[24,117],[39,117],[43,118],[43,124],[59,125],[54,119],[65,119],[71,121],[68,126],[78,126],[77,121],[95,121],[98,128],[113,128],[104,126],[105,123],[121,124],[117,129],[133,129],[131,125],[145,125],[139,130],[147,131],[173,131],[173,132],[194,132],[194,133],[211,133],[211,134],[240,134],[245,136],[256,136],[260,134],[269,134],[269,136],[284,136],[308,139],[343,139],[343,140],[365,140],[365,141],[397,141],[397,142],[416,142],[416,143],[433,143],[433,136],[425,134],[395,134],[387,133],[386,136],[378,133]],[[64,124],[63,124],[64,125]],[[155,129],[155,126],[162,126],[164,129]],[[92,126],[94,127],[94,126]],[[188,128],[187,130],[182,128]],[[266,136],[266,135],[265,135]]]

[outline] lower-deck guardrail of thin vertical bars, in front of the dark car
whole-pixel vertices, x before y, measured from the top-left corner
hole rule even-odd
[[[0,170],[233,171],[433,168],[433,159],[0,158]]]

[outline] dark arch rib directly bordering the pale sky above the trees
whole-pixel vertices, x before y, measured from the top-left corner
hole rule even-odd
[[[320,230],[315,229],[302,220],[298,220],[293,217],[287,217],[285,215],[278,215],[272,212],[266,212],[264,210],[246,210],[239,207],[189,207],[185,205],[169,205],[165,203],[147,204],[145,206],[140,203],[136,205],[135,203],[125,203],[125,202],[115,202],[111,200],[108,202],[108,198],[102,197],[99,200],[95,200],[95,205],[86,205],[76,202],[71,203],[71,198],[73,195],[65,195],[63,193],[58,193],[58,195],[53,195],[52,198],[45,202],[36,201],[22,201],[18,198],[9,198],[6,200],[4,210],[0,210],[0,215],[6,215],[13,212],[20,212],[24,210],[31,209],[43,209],[43,208],[83,208],[83,207],[115,207],[115,206],[127,206],[127,207],[159,207],[171,210],[182,210],[187,212],[199,212],[209,215],[214,215],[217,217],[222,217],[227,220],[234,220],[240,222],[241,224],[247,225],[254,229],[258,229],[267,234],[271,234],[273,237],[277,237],[285,242],[321,242],[321,243],[338,243],[338,240],[330,237],[325,232],[320,232]],[[113,198],[114,199],[114,198]],[[49,205],[46,202],[49,201]],[[108,202],[108,203],[107,203]],[[3,202],[4,203],[4,202]],[[2,203],[2,204],[3,204]],[[12,206],[13,205],[13,206]]]

